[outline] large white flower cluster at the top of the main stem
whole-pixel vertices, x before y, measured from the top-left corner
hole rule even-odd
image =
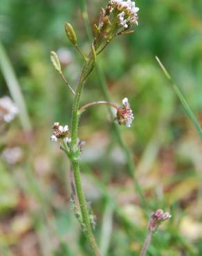
[[[131,0],[111,0],[109,2],[111,12],[116,14],[118,25],[128,28],[131,25],[138,25],[138,10],[136,3]]]

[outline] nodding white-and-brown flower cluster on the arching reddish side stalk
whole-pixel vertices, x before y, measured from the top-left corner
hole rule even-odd
[[[117,109],[116,120],[118,121],[119,125],[131,127],[131,123],[134,120],[134,115],[127,98],[122,100],[122,107]]]

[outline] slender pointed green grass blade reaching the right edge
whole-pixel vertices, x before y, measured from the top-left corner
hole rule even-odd
[[[167,79],[171,82],[172,87],[173,87],[176,95],[178,96],[179,100],[181,101],[181,103],[183,105],[183,108],[185,109],[185,112],[187,113],[187,116],[192,121],[192,124],[194,125],[194,127],[196,128],[196,131],[198,131],[199,136],[202,139],[201,127],[199,125],[199,122],[196,120],[196,117],[194,116],[194,113],[190,109],[190,106],[188,105],[188,103],[185,100],[185,98],[184,98],[183,94],[181,93],[181,91],[178,89],[178,86],[176,86],[176,84],[173,82],[171,75],[169,75],[169,73],[167,72],[165,66],[163,66],[162,62],[160,62],[160,60],[159,60],[159,58],[157,56],[156,56],[156,60],[157,60],[157,62],[159,64],[160,68],[163,70],[163,73],[165,74]]]

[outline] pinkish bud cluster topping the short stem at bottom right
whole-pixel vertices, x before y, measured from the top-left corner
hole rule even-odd
[[[149,231],[156,231],[156,229],[158,228],[158,226],[160,225],[161,222],[170,219],[172,217],[171,214],[169,214],[169,212],[163,212],[163,210],[156,210],[156,212],[153,212],[150,219],[149,219],[149,226],[148,226],[148,230]]]

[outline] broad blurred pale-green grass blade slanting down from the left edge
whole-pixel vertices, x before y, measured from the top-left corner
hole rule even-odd
[[[28,117],[28,111],[26,109],[24,96],[21,93],[21,89],[19,86],[19,82],[17,81],[15,71],[12,68],[12,64],[1,42],[0,42],[0,68],[3,74],[3,77],[6,80],[6,84],[10,91],[10,95],[12,96],[12,99],[15,101],[19,109],[19,118],[21,120],[21,126],[23,127],[24,131],[30,131],[31,124],[30,124],[30,119]]]

